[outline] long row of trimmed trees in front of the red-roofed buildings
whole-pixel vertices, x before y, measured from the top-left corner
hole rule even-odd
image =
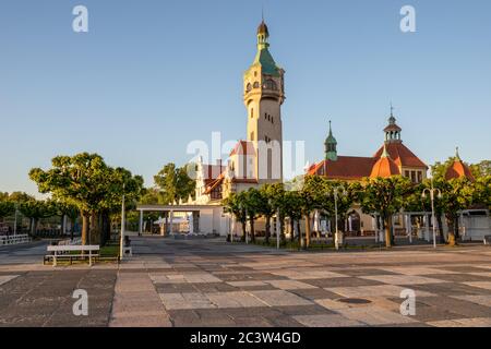
[[[254,221],[259,217],[266,220],[265,239],[271,237],[271,218],[279,215],[282,238],[284,239],[285,218],[294,225],[304,221],[306,244],[309,246],[313,213],[320,210],[334,216],[334,195],[337,194],[337,209],[340,219],[346,219],[354,204],[358,203],[362,212],[379,215],[383,220],[386,245],[394,243],[392,217],[402,212],[431,212],[430,197],[422,197],[422,191],[431,188],[431,180],[412,184],[404,177],[366,179],[358,182],[332,181],[319,176],[308,176],[295,190],[286,190],[284,184],[266,184],[260,190],[250,189],[231,194],[224,200],[226,210],[242,224],[246,237],[246,222],[250,222],[251,240],[255,239]],[[491,206],[491,176],[479,177],[475,182],[466,178],[446,181],[436,176],[433,185],[442,192],[435,201],[440,237],[443,242],[442,216],[445,216],[450,230],[448,243],[458,238],[458,213],[472,205]],[[300,229],[298,229],[300,231]]]

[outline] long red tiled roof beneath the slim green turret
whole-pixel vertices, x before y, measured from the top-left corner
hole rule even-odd
[[[360,180],[369,177],[376,159],[372,157],[338,156],[336,161],[323,160],[310,167],[308,174],[330,179]]]

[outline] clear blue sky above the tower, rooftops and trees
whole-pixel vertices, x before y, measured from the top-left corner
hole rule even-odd
[[[72,31],[72,9],[89,33]],[[399,10],[417,11],[403,34]],[[491,2],[415,0],[2,0],[0,191],[36,193],[32,167],[97,152],[152,176],[189,159],[190,141],[246,137],[242,72],[264,5],[271,51],[286,70],[285,140],[323,157],[370,156],[392,100],[403,140],[427,164],[460,146],[491,158]]]

